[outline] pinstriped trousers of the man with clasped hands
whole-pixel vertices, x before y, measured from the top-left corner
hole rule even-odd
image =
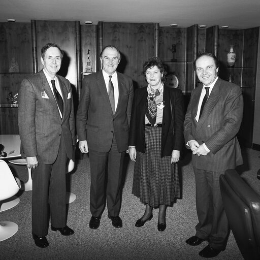
[[[208,239],[212,248],[224,250],[230,233],[219,186],[219,177],[224,172],[210,172],[194,168],[194,173],[199,219],[196,225],[196,236]]]

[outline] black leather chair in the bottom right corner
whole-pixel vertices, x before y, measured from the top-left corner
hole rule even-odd
[[[237,173],[226,170],[220,176],[226,216],[245,260],[260,259],[260,195]]]

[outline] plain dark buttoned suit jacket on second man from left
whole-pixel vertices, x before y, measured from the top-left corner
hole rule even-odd
[[[77,112],[79,141],[87,140],[88,148],[108,152],[113,135],[118,152],[128,148],[128,132],[134,96],[133,81],[117,72],[119,98],[113,114],[102,71],[85,76]]]

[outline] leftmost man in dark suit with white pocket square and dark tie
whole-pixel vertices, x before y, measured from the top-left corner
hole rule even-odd
[[[72,158],[74,109],[69,80],[56,75],[63,52],[49,43],[42,48],[43,70],[29,76],[19,90],[18,125],[22,157],[32,170],[32,236],[49,245],[49,227],[68,236],[66,225],[66,160]]]

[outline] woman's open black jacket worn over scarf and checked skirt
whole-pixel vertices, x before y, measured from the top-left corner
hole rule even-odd
[[[129,145],[136,146],[139,152],[145,152],[145,112],[147,109],[147,88],[135,92],[133,102]],[[164,113],[161,133],[161,156],[170,156],[173,150],[183,146],[184,101],[181,90],[164,86]],[[171,111],[172,108],[172,111]]]

